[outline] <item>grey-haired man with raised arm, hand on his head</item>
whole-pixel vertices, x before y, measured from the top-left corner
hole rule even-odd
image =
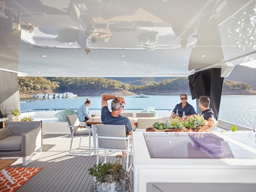
[[[111,102],[111,111],[108,109],[108,100],[113,99]],[[113,95],[103,95],[102,96],[102,113],[101,113],[101,120],[103,124],[108,125],[125,125],[126,133],[131,135],[134,130],[134,123],[131,123],[130,120],[125,117],[121,116],[120,113],[124,108],[125,99],[120,96],[113,96]],[[126,157],[125,151],[122,151],[122,157]]]

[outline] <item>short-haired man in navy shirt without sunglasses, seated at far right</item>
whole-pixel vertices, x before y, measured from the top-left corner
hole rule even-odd
[[[209,108],[210,106],[210,99],[207,96],[200,96],[199,97],[199,107],[202,110],[202,115],[204,115],[204,119],[206,119],[209,122],[213,122],[213,126],[216,125],[216,117],[213,113],[212,109]]]

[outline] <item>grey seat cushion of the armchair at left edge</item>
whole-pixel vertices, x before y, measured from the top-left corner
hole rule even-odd
[[[0,151],[20,151],[21,136],[11,136],[0,140]]]

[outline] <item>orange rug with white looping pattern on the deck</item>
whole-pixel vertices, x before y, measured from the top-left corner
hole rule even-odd
[[[0,172],[0,192],[15,192],[41,169],[43,167],[7,167],[4,170],[14,181],[14,184],[11,184]]]

